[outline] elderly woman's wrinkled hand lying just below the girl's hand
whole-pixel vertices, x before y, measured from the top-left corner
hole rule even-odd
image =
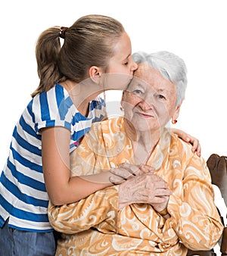
[[[166,208],[169,195],[167,183],[154,173],[134,176],[119,186],[119,209],[132,203],[151,204],[156,211]]]

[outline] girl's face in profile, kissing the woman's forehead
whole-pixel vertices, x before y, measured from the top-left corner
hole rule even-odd
[[[114,45],[112,58],[104,76],[105,89],[126,89],[138,65],[132,59],[132,45],[126,32]]]

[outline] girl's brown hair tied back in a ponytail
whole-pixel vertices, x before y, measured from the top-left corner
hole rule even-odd
[[[67,79],[81,82],[87,78],[89,67],[93,65],[105,70],[114,55],[113,45],[123,32],[123,25],[119,21],[95,14],[79,18],[67,29],[64,27],[62,47],[61,27],[45,30],[36,43],[40,83],[32,97]]]

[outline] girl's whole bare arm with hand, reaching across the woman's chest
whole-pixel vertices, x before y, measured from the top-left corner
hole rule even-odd
[[[89,147],[86,147],[86,153],[83,151],[83,154],[89,155],[89,158],[95,161],[94,152],[89,149]],[[118,168],[119,170],[116,174],[110,173],[108,170],[90,174],[93,167],[86,163],[88,164],[86,170],[88,174],[82,176],[78,169],[76,169],[75,173],[70,172],[69,152],[69,130],[60,126],[44,128],[42,130],[42,169],[48,196],[55,205],[79,201],[98,190],[113,186],[113,183],[123,183],[134,176],[135,173],[138,175],[140,171],[144,173],[151,169],[151,167],[137,167],[132,164],[125,164]],[[73,161],[78,164],[77,166],[80,163],[78,157],[76,155],[76,158],[73,158]],[[113,183],[109,180],[110,176]]]

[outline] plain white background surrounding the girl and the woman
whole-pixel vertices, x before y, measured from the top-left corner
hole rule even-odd
[[[0,11],[1,169],[14,124],[39,83],[36,39],[48,27],[70,27],[86,14],[120,20],[132,52],[168,50],[182,57],[188,89],[176,127],[200,139],[204,158],[227,155],[225,0],[8,0],[1,2]],[[107,95],[107,100],[116,97],[120,93]]]

